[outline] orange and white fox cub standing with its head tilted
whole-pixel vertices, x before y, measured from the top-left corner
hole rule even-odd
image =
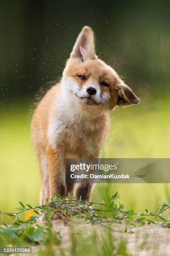
[[[98,159],[107,138],[110,112],[140,99],[95,53],[95,35],[82,28],[60,82],[47,91],[32,117],[31,133],[41,175],[40,204],[67,197],[65,159]],[[89,201],[92,184],[78,184],[75,197]]]

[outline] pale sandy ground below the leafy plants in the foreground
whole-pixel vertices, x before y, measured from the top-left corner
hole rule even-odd
[[[81,220],[80,220],[81,221]],[[62,236],[61,247],[69,248],[70,246],[70,232],[75,236],[88,237],[94,230],[96,230],[100,239],[107,232],[107,228],[100,224],[86,224],[86,223],[70,222],[69,225],[64,225],[61,220],[52,221],[53,229],[60,231]],[[39,223],[44,225],[44,222]],[[123,224],[112,224],[110,228],[114,230],[121,230]],[[144,225],[133,228],[134,233],[118,233],[112,232],[115,244],[124,238],[127,241],[128,253],[139,256],[169,256],[170,255],[170,229],[163,228],[159,225]],[[33,246],[33,254],[36,255],[40,246]],[[56,247],[57,251],[57,247]]]

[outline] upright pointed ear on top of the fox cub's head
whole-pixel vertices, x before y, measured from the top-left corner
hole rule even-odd
[[[94,32],[90,27],[85,26],[82,28],[72,49],[70,58],[78,58],[80,61],[97,59],[95,55]]]

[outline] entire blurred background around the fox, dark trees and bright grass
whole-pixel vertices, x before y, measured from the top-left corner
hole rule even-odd
[[[96,34],[97,55],[140,97],[116,108],[102,156],[170,157],[170,1],[1,1],[0,210],[39,202],[30,138],[35,95],[61,77],[81,28]],[[170,203],[169,184],[97,184],[92,200],[118,191],[126,208]],[[5,217],[6,220],[6,217]],[[2,216],[0,216],[2,221]]]

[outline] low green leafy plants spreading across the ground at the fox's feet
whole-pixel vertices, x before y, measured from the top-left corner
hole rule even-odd
[[[163,226],[170,227],[170,219],[163,216],[163,213],[170,208],[166,203],[160,204],[155,213],[148,212],[147,209],[144,213],[135,213],[133,210],[124,210],[123,204],[117,205],[115,200],[118,197],[116,192],[107,202],[98,203],[76,200],[71,195],[67,198],[56,195],[51,202],[36,207],[28,204],[25,207],[20,202],[21,207],[16,208],[19,212],[0,212],[0,214],[10,215],[13,221],[10,225],[4,223],[4,226],[0,227],[0,243],[11,243],[13,246],[40,243],[59,244],[61,236],[59,232],[52,230],[51,219],[53,218],[62,219],[65,224],[75,219],[83,219],[85,223],[100,224],[115,232],[132,233],[136,225],[158,224],[158,221],[150,220],[149,217],[160,218]],[[19,218],[22,212],[28,212],[25,220]],[[41,216],[45,218],[45,227],[37,222]],[[110,228],[112,223],[123,224],[123,228],[114,230]]]

